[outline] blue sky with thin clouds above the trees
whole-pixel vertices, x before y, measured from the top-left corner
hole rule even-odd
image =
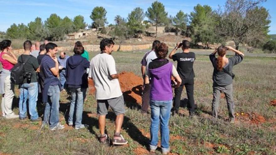
[[[127,18],[134,8],[140,7],[146,12],[147,8],[155,0],[0,0],[0,31],[6,31],[13,23],[28,24],[36,17],[45,21],[50,14],[56,13],[61,18],[65,16],[73,19],[77,15],[82,15],[86,23],[91,24],[91,12],[94,7],[102,6],[107,11],[108,23],[114,23],[114,17],[120,15]],[[209,5],[213,9],[223,6],[226,0],[158,0],[165,6],[168,15],[175,16],[179,10],[190,13],[197,4]],[[270,32],[276,34],[276,5],[275,0],[267,0],[262,6],[268,9],[270,14]],[[146,18],[145,18],[146,20]]]

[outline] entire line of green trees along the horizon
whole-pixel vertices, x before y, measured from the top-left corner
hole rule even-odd
[[[34,22],[13,24],[8,28],[6,37],[27,38],[31,40],[62,40],[65,34],[89,28],[100,29],[103,34],[108,33],[105,26],[114,27],[109,35],[119,39],[141,37],[147,29],[154,25],[166,26],[166,31],[191,37],[194,44],[201,42],[206,48],[209,44],[224,43],[232,40],[239,49],[240,44],[249,44],[255,48],[263,47],[270,39],[268,36],[271,22],[268,10],[261,6],[266,0],[226,0],[223,7],[213,9],[209,5],[196,5],[191,13],[182,10],[175,16],[168,16],[165,6],[155,1],[146,12],[140,7],[134,8],[127,18],[119,15],[114,17],[115,24],[107,22],[107,10],[104,7],[95,7],[90,18],[92,23],[87,25],[81,15],[73,20],[68,17],[61,19],[52,14],[45,22],[36,18]],[[145,17],[148,20],[144,20]]]

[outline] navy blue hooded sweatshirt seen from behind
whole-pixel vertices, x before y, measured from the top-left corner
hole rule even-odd
[[[66,84],[69,88],[88,87],[87,68],[89,68],[89,61],[81,55],[75,54],[67,59]]]

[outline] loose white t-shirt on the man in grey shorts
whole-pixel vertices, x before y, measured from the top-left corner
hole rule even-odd
[[[107,100],[123,95],[119,80],[110,75],[117,74],[115,60],[110,54],[98,54],[91,59],[88,77],[92,77],[96,88],[96,99]]]

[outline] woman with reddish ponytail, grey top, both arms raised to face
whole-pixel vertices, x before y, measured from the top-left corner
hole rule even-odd
[[[236,53],[236,56],[226,58],[226,51],[231,50]],[[215,54],[218,53],[218,58]],[[237,65],[243,60],[244,54],[230,46],[219,46],[215,51],[209,55],[210,60],[214,66],[213,72],[213,101],[212,101],[212,115],[218,117],[220,93],[224,92],[226,96],[227,108],[229,113],[229,121],[234,122],[234,101],[233,101],[233,79],[235,75],[232,73],[233,66]]]

